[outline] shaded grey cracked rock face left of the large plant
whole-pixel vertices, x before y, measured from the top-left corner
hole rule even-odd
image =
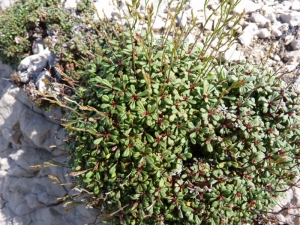
[[[63,130],[49,116],[61,117],[56,109],[43,112],[23,90],[9,81],[13,71],[0,63],[0,224],[83,225],[94,223],[98,211],[80,206],[65,212],[57,198],[69,194],[72,180],[64,167],[32,167],[44,162],[65,163]],[[56,148],[50,148],[56,145]],[[56,176],[61,186],[49,179]],[[99,221],[98,221],[99,222]]]

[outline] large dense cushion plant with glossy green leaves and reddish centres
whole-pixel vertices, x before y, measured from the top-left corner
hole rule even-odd
[[[127,3],[123,24],[84,17],[57,68],[72,96],[39,93],[67,110],[81,202],[112,224],[252,222],[299,173],[300,93],[268,68],[217,60],[238,2],[220,3],[204,47],[185,41],[195,18],[176,24],[186,2],[159,38],[147,2],[145,15]]]

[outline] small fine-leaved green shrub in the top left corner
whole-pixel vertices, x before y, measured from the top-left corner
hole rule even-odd
[[[49,31],[55,31],[61,42],[69,40],[71,29],[78,22],[62,9],[61,1],[19,0],[1,12],[0,59],[17,68],[22,59],[32,54],[35,40],[47,40]]]

